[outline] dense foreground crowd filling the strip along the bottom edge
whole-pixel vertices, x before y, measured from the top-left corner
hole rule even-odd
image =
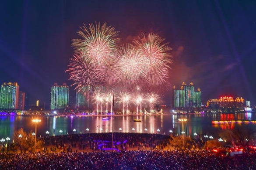
[[[256,154],[230,158],[207,150],[0,153],[0,169],[240,170],[256,169]]]

